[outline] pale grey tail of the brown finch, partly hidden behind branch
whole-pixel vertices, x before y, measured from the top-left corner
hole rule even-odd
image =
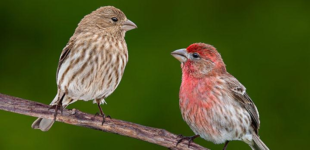
[[[58,93],[57,95],[55,96],[54,100],[51,102],[50,105],[54,105],[56,104],[57,100],[58,100]],[[69,104],[68,104],[68,100],[67,100],[67,96],[64,96],[63,98],[63,108],[66,108]],[[73,101],[70,101],[70,103],[72,103]],[[45,119],[45,118],[38,118],[37,120],[35,120],[31,127],[33,129],[40,129],[41,131],[48,131],[52,125],[54,123],[54,120],[51,120],[51,119]]]

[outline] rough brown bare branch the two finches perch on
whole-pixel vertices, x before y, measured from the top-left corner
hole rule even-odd
[[[0,110],[11,111],[33,117],[54,119],[54,110],[48,110],[49,107],[49,105],[0,93]],[[56,121],[124,135],[161,145],[172,150],[209,150],[195,143],[192,143],[190,148],[188,148],[188,141],[181,142],[176,147],[175,144],[178,140],[177,135],[164,129],[146,127],[136,123],[108,118],[104,124],[101,125],[101,119],[101,117],[95,117],[92,114],[87,114],[76,109],[64,109],[63,114],[59,113],[57,115]]]

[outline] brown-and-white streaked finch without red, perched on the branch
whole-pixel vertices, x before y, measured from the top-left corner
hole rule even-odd
[[[49,130],[57,110],[62,111],[77,100],[94,99],[104,122],[100,104],[122,79],[128,61],[125,32],[135,28],[135,23],[113,6],[100,7],[86,15],[60,55],[57,94],[50,104],[55,108],[54,120],[38,118],[32,128]]]

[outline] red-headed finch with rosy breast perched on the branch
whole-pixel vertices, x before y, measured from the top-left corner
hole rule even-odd
[[[246,88],[226,71],[217,50],[204,43],[171,53],[181,62],[179,105],[182,117],[196,134],[215,144],[241,140],[254,150],[269,150],[259,139],[259,114]]]

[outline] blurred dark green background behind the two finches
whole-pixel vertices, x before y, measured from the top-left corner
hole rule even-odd
[[[80,19],[100,6],[121,9],[138,29],[126,33],[129,62],[103,109],[116,119],[193,135],[179,111],[180,63],[170,52],[194,42],[214,45],[229,73],[259,109],[270,149],[308,149],[310,1],[0,2],[0,93],[49,104],[62,48]],[[95,114],[92,102],[68,107]],[[31,129],[34,117],[0,110],[0,149],[166,149],[144,141],[55,123]],[[201,138],[198,144],[222,149]],[[250,148],[241,141],[229,150]]]

